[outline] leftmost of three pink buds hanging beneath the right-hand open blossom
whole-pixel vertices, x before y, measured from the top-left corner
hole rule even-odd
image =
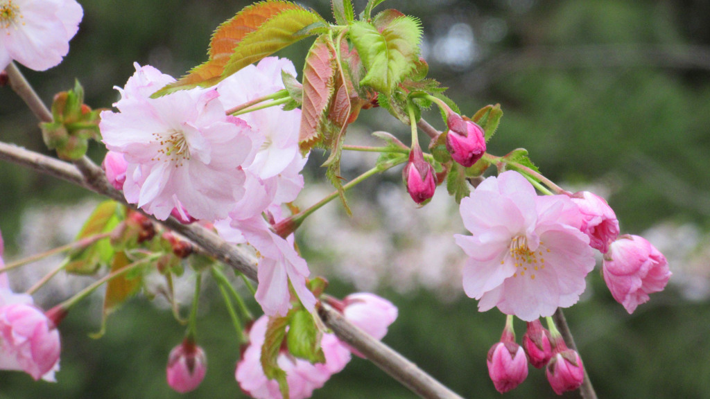
[[[528,377],[528,359],[520,345],[513,341],[498,342],[488,351],[488,375],[500,393],[520,385]]]

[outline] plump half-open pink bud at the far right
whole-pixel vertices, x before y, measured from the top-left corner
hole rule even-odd
[[[630,235],[611,243],[602,273],[611,295],[629,313],[647,302],[648,294],[662,291],[671,276],[665,256],[643,237]]]

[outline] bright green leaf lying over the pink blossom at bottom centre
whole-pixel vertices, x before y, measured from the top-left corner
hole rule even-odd
[[[288,351],[312,364],[325,363],[325,355],[320,347],[322,333],[316,327],[313,315],[305,309],[298,310],[288,325]]]

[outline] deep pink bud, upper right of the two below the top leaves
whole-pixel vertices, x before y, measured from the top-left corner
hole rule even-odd
[[[484,129],[474,121],[467,121],[453,112],[449,114],[447,125],[449,133],[446,137],[446,149],[457,163],[469,168],[486,153]]]

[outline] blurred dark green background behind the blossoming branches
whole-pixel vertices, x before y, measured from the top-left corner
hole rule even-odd
[[[117,97],[112,87],[124,85],[133,73],[133,62],[182,75],[206,59],[214,28],[248,4],[80,3],[84,20],[64,62],[47,72],[23,69],[48,103],[77,78],[86,90],[87,104],[109,107]],[[364,1],[354,3],[359,11],[364,8]],[[301,4],[332,20],[327,1]],[[616,210],[623,232],[648,234],[653,244],[668,251],[672,285],[652,295],[633,315],[613,301],[599,273],[589,275],[591,294],[567,311],[599,397],[710,397],[710,4],[391,0],[379,9],[383,7],[422,19],[430,77],[451,87],[447,94],[464,114],[501,103],[505,115],[488,151],[503,155],[527,148],[552,180],[567,188],[597,187]],[[311,41],[279,55],[292,58],[300,70],[299,58]],[[442,126],[436,114],[429,119]],[[388,130],[403,133],[404,138],[408,134],[382,110],[363,112],[357,125],[362,132]],[[357,129],[350,135],[353,141]],[[48,153],[35,119],[7,87],[0,88],[0,140]],[[99,146],[92,148],[92,156],[101,159]],[[307,180],[323,180],[319,157],[312,158]],[[358,168],[345,171],[353,177]],[[397,173],[383,180],[404,190]],[[367,201],[377,190],[375,184],[365,185],[350,197],[365,209],[375,207]],[[21,221],[28,209],[73,204],[79,195],[89,194],[1,163],[0,229],[9,256],[21,251]],[[409,203],[402,206],[413,208]],[[342,220],[346,225],[340,228],[359,226],[357,212],[354,219]],[[306,253],[317,259],[314,267],[330,278],[332,295],[342,297],[358,286],[352,278],[339,280],[328,274],[327,266],[343,259],[329,258],[327,251],[302,241]],[[503,315],[479,313],[476,301],[462,295],[460,288],[442,300],[436,289],[374,286],[400,310],[386,343],[466,398],[500,395],[489,381],[485,356],[500,336]],[[99,340],[87,337],[99,326],[97,304],[73,310],[60,327],[59,382],[34,382],[24,373],[1,372],[0,398],[242,397],[234,381],[239,345],[219,298],[207,293],[206,299],[210,297],[214,300],[206,302],[198,327],[209,371],[192,393],[179,395],[165,383],[168,352],[184,330],[168,310],[137,298],[109,319],[108,332]],[[522,334],[520,325],[518,337]],[[372,364],[354,359],[313,397],[413,396]],[[544,373],[531,369],[528,380],[506,397],[555,394]]]

